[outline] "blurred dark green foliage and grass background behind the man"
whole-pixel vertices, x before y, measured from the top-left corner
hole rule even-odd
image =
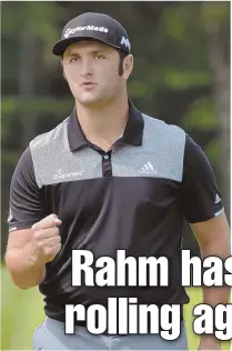
[[[1,254],[8,238],[9,187],[14,167],[29,141],[69,116],[73,99],[51,53],[71,18],[108,13],[128,30],[134,71],[129,93],[144,113],[178,124],[209,157],[230,222],[230,2],[81,2],[8,1],[1,3]],[[190,199],[191,201],[191,199]],[[189,225],[183,248],[199,254]],[[13,287],[2,259],[2,350],[31,348],[34,328],[43,320],[37,289]],[[189,289],[185,308],[190,349],[192,307],[201,289]],[[229,350],[229,343],[224,343]]]

